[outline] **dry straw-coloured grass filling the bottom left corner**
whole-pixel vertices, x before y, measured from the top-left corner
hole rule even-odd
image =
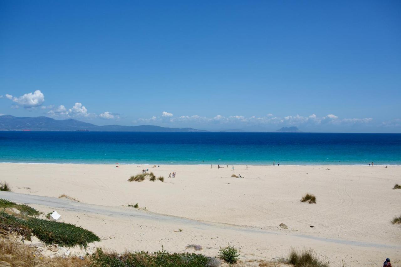
[[[23,267],[84,267],[90,266],[91,261],[85,257],[55,257],[50,259],[38,254],[36,249],[20,243],[14,235],[0,233],[0,262],[9,263],[10,266]],[[4,263],[2,266],[7,266]]]

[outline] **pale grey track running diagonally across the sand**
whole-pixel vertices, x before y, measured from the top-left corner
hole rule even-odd
[[[264,234],[264,235],[282,235],[282,233],[271,232],[271,231],[264,231],[260,229],[252,229],[251,227],[240,227],[237,225],[229,225],[229,224],[222,224],[222,223],[207,223],[198,220],[191,220],[188,218],[182,218],[178,216],[172,215],[165,215],[159,214],[154,212],[143,212],[141,210],[125,210],[121,207],[112,207],[112,206],[100,206],[100,205],[93,205],[93,204],[86,204],[81,202],[74,202],[71,200],[65,200],[61,198],[52,198],[49,196],[36,196],[36,195],[29,195],[29,194],[19,194],[13,192],[4,192],[0,191],[0,198],[4,198],[13,202],[22,203],[22,204],[37,204],[42,206],[49,206],[52,208],[63,208],[65,210],[73,210],[76,212],[89,212],[93,214],[101,214],[107,216],[121,216],[121,217],[140,217],[148,220],[154,221],[165,221],[170,223],[181,223],[186,224],[198,229],[205,229],[205,228],[218,228],[218,229],[226,229],[226,230],[233,230],[239,231],[243,233],[257,233],[257,234]],[[329,238],[322,238],[322,237],[314,237],[310,235],[299,235],[299,234],[290,234],[286,236],[293,236],[298,238],[304,239],[313,239],[316,241],[321,242],[328,242],[328,243],[337,243],[342,245],[352,245],[357,247],[375,247],[375,248],[387,248],[387,249],[400,249],[401,246],[397,245],[383,245],[383,244],[376,244],[376,243],[369,243],[369,242],[359,242],[359,241],[348,241],[342,239],[329,239]]]

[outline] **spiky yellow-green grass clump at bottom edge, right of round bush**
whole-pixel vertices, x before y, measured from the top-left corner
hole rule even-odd
[[[288,261],[294,267],[329,267],[330,263],[322,261],[318,258],[318,255],[312,249],[302,249],[297,251],[291,249],[290,255],[288,255]]]

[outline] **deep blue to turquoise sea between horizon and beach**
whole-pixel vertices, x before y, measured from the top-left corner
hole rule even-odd
[[[0,162],[401,164],[401,134],[0,131]]]

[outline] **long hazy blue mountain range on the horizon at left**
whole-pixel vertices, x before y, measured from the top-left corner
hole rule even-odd
[[[104,125],[78,121],[76,119],[57,120],[49,117],[0,116],[0,131],[204,131],[193,128],[169,128],[155,125]]]

